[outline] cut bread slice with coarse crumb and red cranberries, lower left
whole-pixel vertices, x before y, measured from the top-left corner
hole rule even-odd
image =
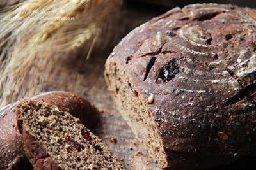
[[[31,100],[20,102],[16,110],[33,169],[123,169],[106,144],[67,111]]]

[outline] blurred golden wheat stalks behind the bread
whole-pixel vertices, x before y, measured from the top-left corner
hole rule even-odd
[[[35,71],[35,60],[47,65],[51,60],[49,56],[67,57],[86,43],[90,46],[87,58],[90,57],[109,19],[115,20],[118,6],[120,0],[27,0],[1,9],[0,97],[3,105],[9,103],[8,98],[13,94],[23,97],[42,90],[40,82],[44,76],[35,76],[29,85],[26,82],[26,77],[33,75],[31,70]],[[32,90],[20,92],[22,85]]]

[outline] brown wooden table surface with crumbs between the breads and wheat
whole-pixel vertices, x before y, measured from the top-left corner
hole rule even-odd
[[[163,13],[163,11],[152,11],[143,6],[134,8],[128,5],[121,14],[120,25],[116,28],[118,33],[116,40],[120,41],[120,38],[131,29],[160,13]],[[147,150],[144,150],[140,142],[134,137],[129,126],[116,110],[115,103],[111,100],[111,96],[106,89],[103,76],[104,62],[112,49],[113,44],[102,49],[95,48],[89,60],[86,60],[84,48],[64,57],[52,57],[54,53],[51,53],[51,50],[39,53],[40,56],[50,56],[52,60],[47,60],[44,66],[38,65],[38,58],[31,60],[33,62],[31,64],[33,73],[29,72],[26,76],[30,83],[22,85],[20,89],[15,90],[15,93],[10,94],[7,98],[3,99],[1,97],[1,104],[12,103],[17,99],[32,96],[42,91],[67,90],[79,94],[88,99],[99,110],[99,122],[96,122],[97,126],[92,131],[107,143],[111,151],[118,155],[125,169],[160,169],[148,157]],[[38,81],[33,84],[33,80],[38,78],[42,84],[38,85]],[[256,167],[255,160],[255,157],[250,157],[212,170],[250,170]]]

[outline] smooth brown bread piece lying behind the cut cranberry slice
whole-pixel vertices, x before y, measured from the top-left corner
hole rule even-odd
[[[95,108],[83,98],[70,92],[46,92],[32,97],[32,99],[54,104],[60,110],[69,111],[88,127],[92,127],[95,122],[93,117],[96,113]],[[22,169],[22,167],[28,169],[29,166],[22,150],[21,136],[16,131],[15,108],[18,103],[10,104],[0,110],[0,169]],[[86,115],[88,111],[92,115]]]

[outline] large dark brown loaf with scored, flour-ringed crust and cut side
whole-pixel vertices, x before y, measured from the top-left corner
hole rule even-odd
[[[256,153],[256,10],[174,8],[129,33],[106,62],[120,113],[161,167]]]

